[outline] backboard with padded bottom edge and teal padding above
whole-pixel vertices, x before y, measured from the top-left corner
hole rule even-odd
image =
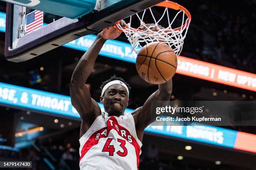
[[[11,2],[7,3],[6,7],[5,58],[13,62],[29,60],[84,35],[97,33],[123,18],[163,2],[163,0],[27,0],[30,3],[21,4],[14,0],[3,1]],[[39,3],[36,5],[32,3],[36,1]],[[84,10],[81,8],[81,2],[86,6]],[[49,5],[50,7],[47,8]],[[23,31],[25,16],[33,10],[42,10],[62,18],[25,34]]]

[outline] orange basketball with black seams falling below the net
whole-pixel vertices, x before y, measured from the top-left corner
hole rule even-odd
[[[151,42],[139,51],[136,69],[146,82],[162,84],[174,76],[177,69],[177,55],[164,42]]]

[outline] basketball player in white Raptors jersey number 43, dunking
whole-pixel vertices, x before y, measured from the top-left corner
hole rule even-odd
[[[100,102],[105,111],[100,110],[85,82],[105,41],[120,34],[114,27],[100,32],[72,75],[71,101],[82,119],[81,170],[138,170],[144,129],[156,120],[151,117],[151,102],[169,100],[172,93],[172,80],[169,80],[159,85],[142,107],[126,114],[131,87],[122,78],[113,76],[101,86]]]

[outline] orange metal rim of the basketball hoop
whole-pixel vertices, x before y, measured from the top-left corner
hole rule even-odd
[[[181,10],[183,11],[184,10],[184,13],[187,15],[187,18],[189,20],[187,20],[187,23],[185,23],[184,25],[182,25],[181,27],[179,28],[175,28],[173,29],[174,31],[177,31],[177,30],[182,30],[184,27],[188,27],[189,23],[191,22],[191,14],[189,13],[189,11],[183,7],[182,5],[179,5],[175,2],[172,2],[172,1],[169,1],[169,0],[166,0],[164,2],[161,2],[155,6],[158,6],[158,7],[168,7],[170,9],[173,9],[173,10]],[[115,24],[119,24],[121,21],[118,21],[116,22]],[[186,26],[187,25],[187,26]],[[116,25],[114,26],[116,29],[119,29]],[[128,28],[127,25],[125,25],[125,28]],[[136,28],[132,28],[134,30],[140,30],[140,29],[136,29]],[[120,29],[119,29],[120,30]],[[166,30],[165,32],[171,32],[171,30]]]

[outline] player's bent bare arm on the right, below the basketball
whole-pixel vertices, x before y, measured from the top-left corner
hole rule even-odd
[[[140,140],[142,140],[144,129],[152,122],[154,122],[154,120],[156,120],[156,116],[161,116],[161,114],[151,114],[151,102],[168,101],[170,100],[171,95],[172,79],[163,84],[160,84],[158,90],[156,90],[156,92],[154,92],[151,96],[148,97],[144,105],[133,112],[136,132]]]

